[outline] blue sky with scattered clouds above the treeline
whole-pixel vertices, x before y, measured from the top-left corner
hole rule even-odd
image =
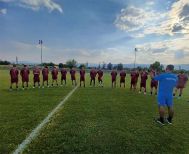
[[[189,0],[0,0],[0,59],[189,63]]]

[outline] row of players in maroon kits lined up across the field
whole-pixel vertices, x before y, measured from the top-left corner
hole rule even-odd
[[[51,71],[52,86],[54,86],[54,82],[58,86],[58,72],[59,72],[59,70],[56,67],[53,67],[53,69]],[[63,85],[63,83],[66,84],[67,70],[62,68],[60,72],[61,72],[61,85]],[[71,76],[72,85],[77,85],[76,70],[74,68],[72,68],[69,73],[70,73],[70,76]],[[85,69],[81,68],[79,73],[80,73],[80,86],[83,83],[83,86],[85,87]],[[25,88],[25,86],[28,87],[29,74],[30,74],[30,71],[29,71],[28,67],[26,65],[24,65],[24,67],[20,71],[23,89]],[[48,69],[47,66],[45,66],[42,69],[42,76],[43,76],[42,87],[44,87],[45,82],[46,82],[46,85],[49,86],[48,74],[49,74],[49,69]],[[11,90],[12,90],[13,83],[15,83],[16,88],[18,88],[18,75],[19,75],[19,70],[16,68],[16,65],[13,65],[13,67],[10,70],[10,76],[11,76],[10,89]],[[90,79],[90,85],[93,84],[93,86],[95,86],[95,84],[96,84],[95,79],[96,79],[97,75],[98,75],[99,86],[103,87],[103,71],[101,69],[99,69],[99,70],[91,69],[91,71],[90,71],[90,78],[91,78]],[[116,70],[113,70],[111,72],[112,87],[116,87],[117,75],[118,75],[118,73],[117,73]],[[122,70],[119,75],[120,75],[120,87],[122,85],[125,87],[126,72],[124,70]],[[155,75],[156,75],[156,72],[154,70],[151,70],[150,76],[155,76]],[[140,79],[141,79],[140,80],[139,93],[141,93],[143,91],[144,94],[146,94],[146,82],[147,82],[147,79],[148,79],[148,73],[145,70],[141,71],[140,73],[137,70],[131,72],[130,89],[136,90],[136,86],[137,86],[137,83],[138,83],[139,76],[140,76]],[[179,96],[181,96],[183,88],[185,87],[186,82],[187,82],[187,76],[183,72],[181,72],[178,75],[178,78],[179,78],[179,82],[178,82],[176,89],[180,90]],[[38,85],[38,87],[40,87],[40,69],[37,66],[33,69],[33,88],[35,88],[36,84]],[[151,79],[150,87],[151,87],[151,92],[150,92],[151,95],[153,93],[153,90],[155,90],[155,94],[157,94],[158,82]]]

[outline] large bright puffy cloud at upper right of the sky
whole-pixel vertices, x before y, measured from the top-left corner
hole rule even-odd
[[[138,37],[149,34],[188,34],[189,1],[178,0],[167,12],[157,12],[145,7],[127,7],[121,10],[115,20],[115,25],[120,30],[137,32]]]

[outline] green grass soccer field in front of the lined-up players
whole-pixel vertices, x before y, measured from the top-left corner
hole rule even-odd
[[[146,96],[130,91],[127,75],[125,89],[112,89],[109,74],[104,88],[90,87],[88,76],[86,88],[76,89],[24,153],[189,153],[189,85],[175,98],[173,125],[160,127],[149,87]],[[68,81],[66,87],[10,92],[9,72],[0,70],[0,153],[13,152],[67,96],[69,75]]]

